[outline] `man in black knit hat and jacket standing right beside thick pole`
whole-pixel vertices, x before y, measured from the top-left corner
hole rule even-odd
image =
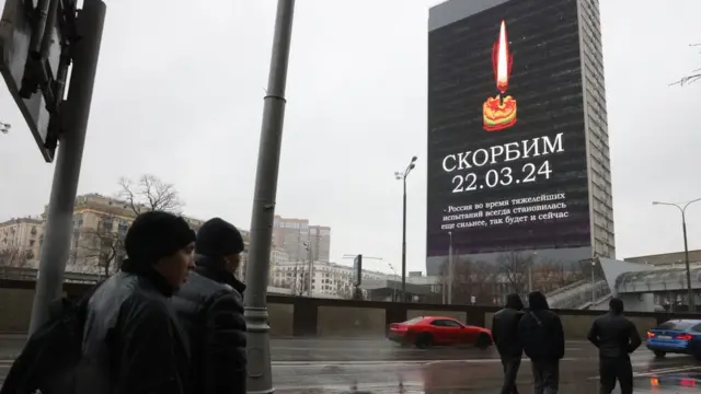
[[[241,233],[215,218],[197,232],[196,268],[174,298],[187,331],[197,394],[245,394],[245,285],[234,277],[243,252]]]

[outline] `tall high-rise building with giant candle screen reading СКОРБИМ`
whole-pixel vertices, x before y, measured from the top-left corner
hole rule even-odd
[[[614,257],[598,0],[450,0],[428,21],[427,271]]]

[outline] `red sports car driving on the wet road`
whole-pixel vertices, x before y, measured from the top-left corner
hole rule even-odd
[[[388,337],[395,343],[415,345],[422,349],[434,345],[474,345],[486,349],[493,344],[491,331],[444,316],[421,316],[404,323],[392,323]]]

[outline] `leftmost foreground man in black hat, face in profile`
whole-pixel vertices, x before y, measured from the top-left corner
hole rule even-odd
[[[150,211],[124,246],[122,270],[88,302],[77,393],[186,393],[187,341],[170,298],[193,267],[195,233],[183,218]]]

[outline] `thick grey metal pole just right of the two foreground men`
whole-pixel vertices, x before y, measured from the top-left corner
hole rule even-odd
[[[266,296],[294,13],[295,0],[278,0],[255,174],[249,254],[250,268],[246,271],[248,288],[244,296],[244,317],[249,339],[246,367],[249,375],[246,392],[249,394],[273,393],[275,391],[271,368],[271,326],[267,321]]]

